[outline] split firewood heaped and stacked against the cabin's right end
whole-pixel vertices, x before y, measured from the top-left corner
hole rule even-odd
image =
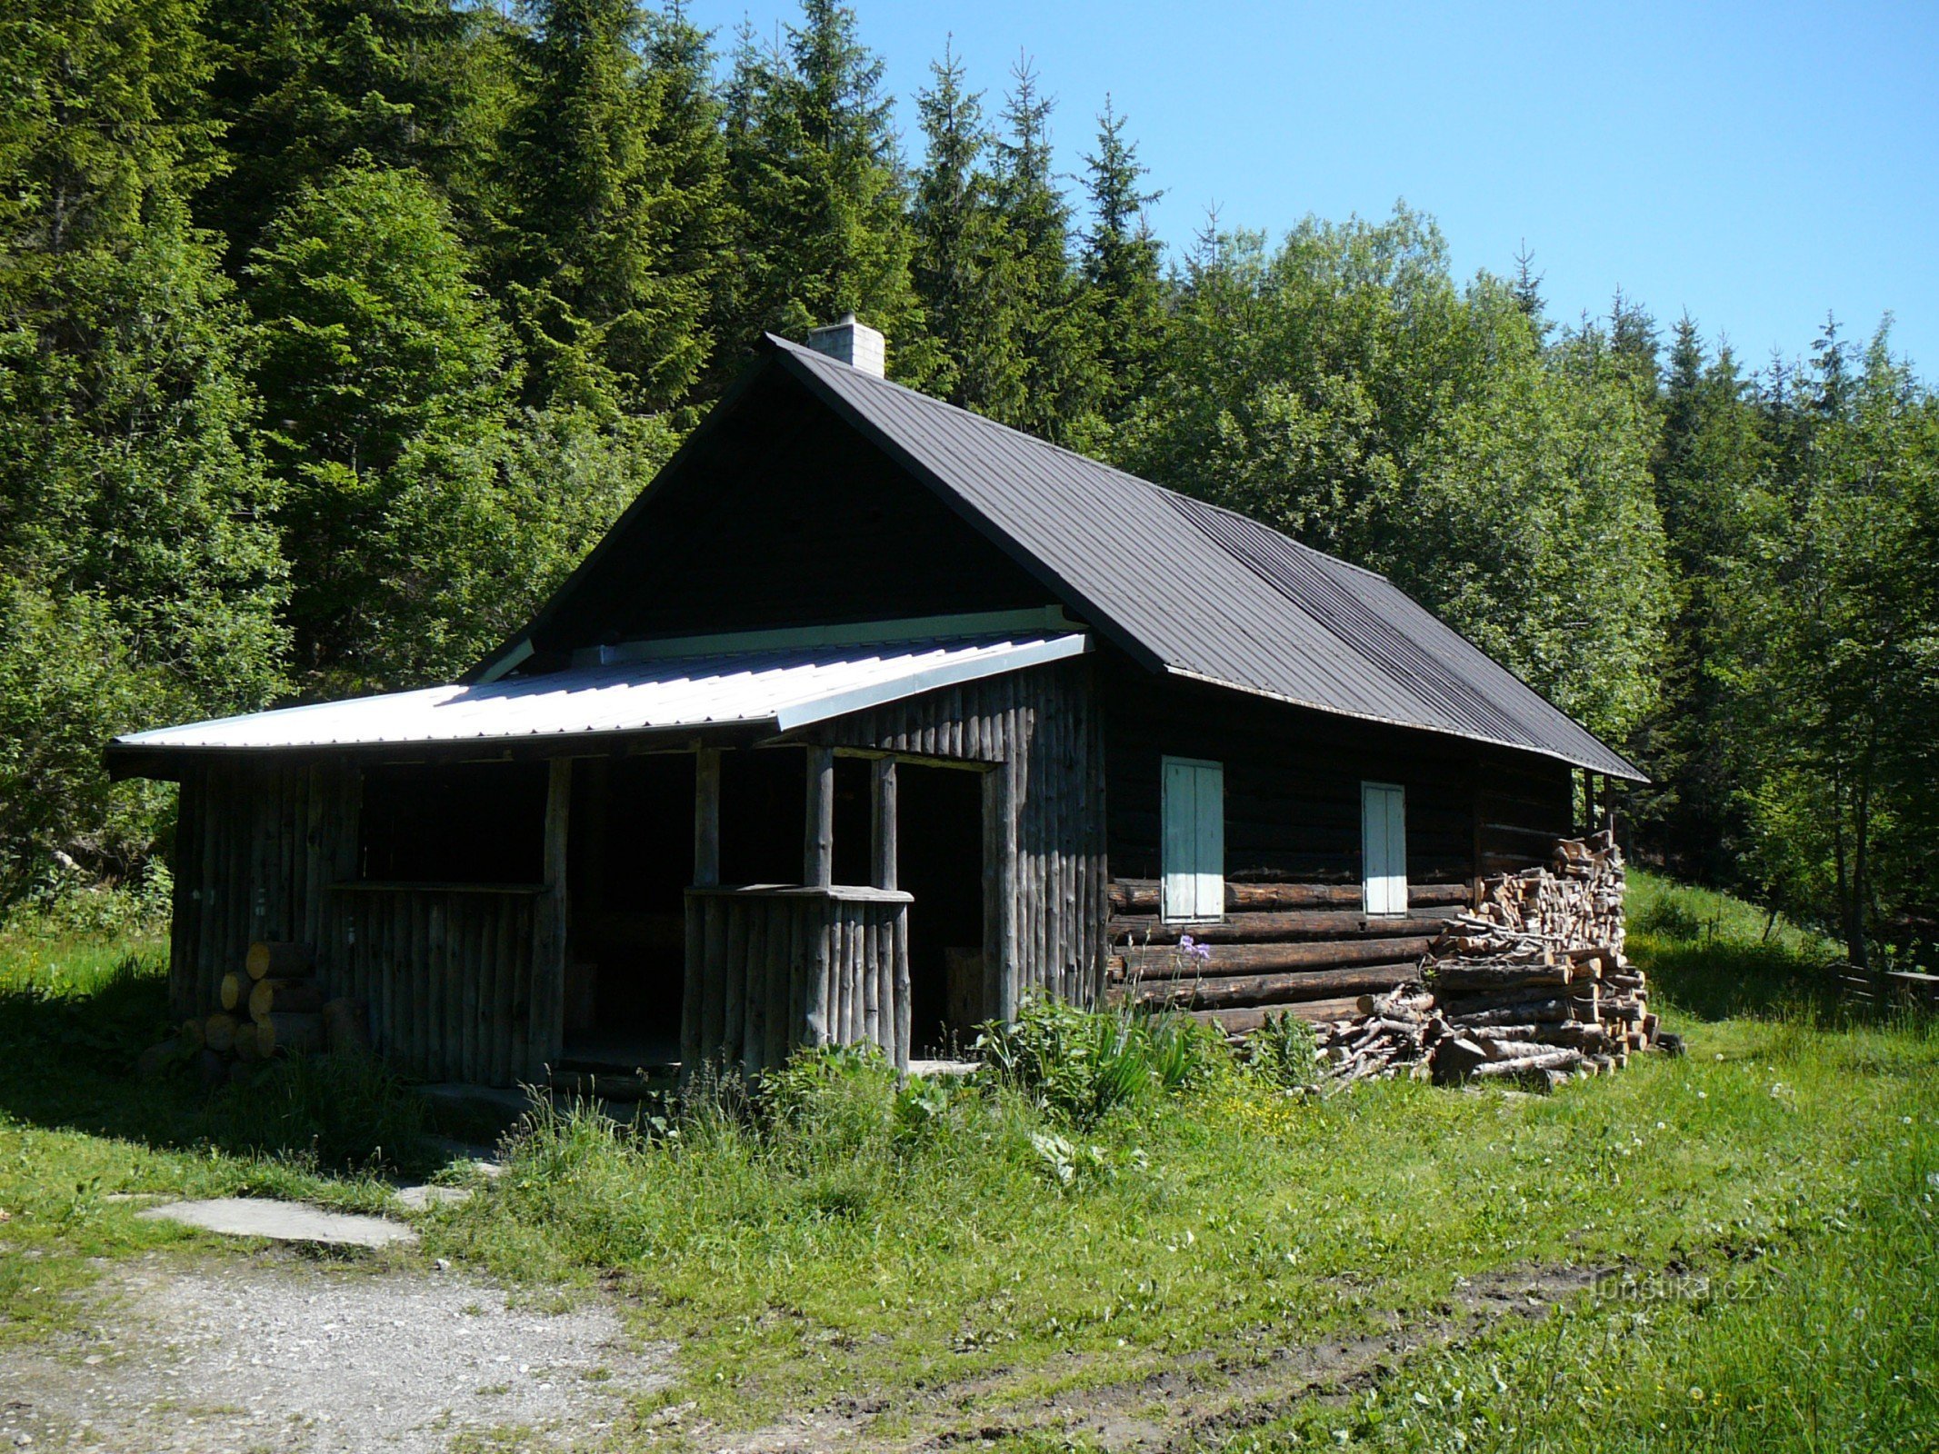
[[[1555,849],[1555,869],[1483,882],[1419,977],[1363,995],[1357,1016],[1315,1027],[1336,1080],[1557,1086],[1629,1064],[1656,1043],[1648,985],[1623,956],[1623,859],[1607,836]]]

